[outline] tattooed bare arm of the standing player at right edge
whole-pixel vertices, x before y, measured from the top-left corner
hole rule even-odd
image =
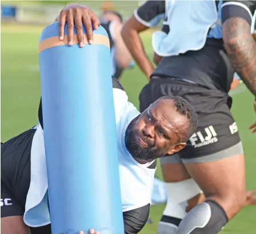
[[[256,42],[245,19],[231,18],[222,26],[227,55],[233,68],[256,96]]]

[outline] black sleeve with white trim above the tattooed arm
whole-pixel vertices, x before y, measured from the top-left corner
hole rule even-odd
[[[222,23],[227,19],[239,17],[245,19],[249,25],[256,10],[256,1],[223,1],[221,9]]]

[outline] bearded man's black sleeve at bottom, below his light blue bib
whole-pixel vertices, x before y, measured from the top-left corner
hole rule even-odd
[[[138,209],[123,212],[123,223],[125,224],[125,234],[137,234],[147,223],[149,217],[150,204]]]

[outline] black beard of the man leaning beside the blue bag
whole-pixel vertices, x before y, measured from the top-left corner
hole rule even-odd
[[[154,149],[154,143],[146,136],[139,134],[138,129],[134,129],[136,120],[137,118],[130,122],[125,132],[125,146],[133,158],[146,161],[154,160],[165,155],[166,149]],[[142,140],[147,143],[147,146],[141,145],[137,140],[137,136],[141,137]]]

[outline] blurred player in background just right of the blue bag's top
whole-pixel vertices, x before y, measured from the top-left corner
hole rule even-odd
[[[124,69],[134,67],[134,61],[121,36],[123,18],[117,11],[108,9],[103,11],[100,20],[109,35],[112,75],[119,79]]]

